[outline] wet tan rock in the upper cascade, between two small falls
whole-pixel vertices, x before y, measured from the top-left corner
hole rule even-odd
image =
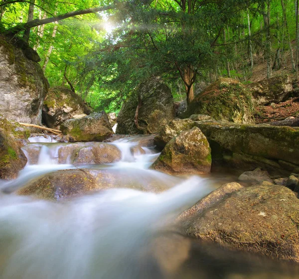
[[[73,152],[72,162],[77,164],[109,164],[122,158],[121,151],[113,144],[93,142],[91,146]]]

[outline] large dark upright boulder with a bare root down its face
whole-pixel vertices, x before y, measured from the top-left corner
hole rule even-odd
[[[138,127],[135,114],[138,111]],[[173,97],[170,89],[154,78],[125,101],[117,118],[116,134],[155,134],[173,118]]]

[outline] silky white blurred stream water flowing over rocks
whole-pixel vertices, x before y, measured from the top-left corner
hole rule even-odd
[[[73,165],[83,143],[30,138],[27,165],[0,184],[0,279],[299,278],[297,266],[181,235],[175,217],[226,178],[149,170],[158,153],[147,146],[133,153],[141,139],[110,143],[121,150],[119,162]],[[99,183],[111,188],[57,201],[15,193],[46,173],[78,168],[105,171],[109,179]]]

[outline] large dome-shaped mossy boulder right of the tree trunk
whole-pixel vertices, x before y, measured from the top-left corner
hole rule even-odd
[[[239,81],[220,78],[194,98],[183,117],[203,114],[216,120],[253,123],[254,103],[251,96],[251,92]]]

